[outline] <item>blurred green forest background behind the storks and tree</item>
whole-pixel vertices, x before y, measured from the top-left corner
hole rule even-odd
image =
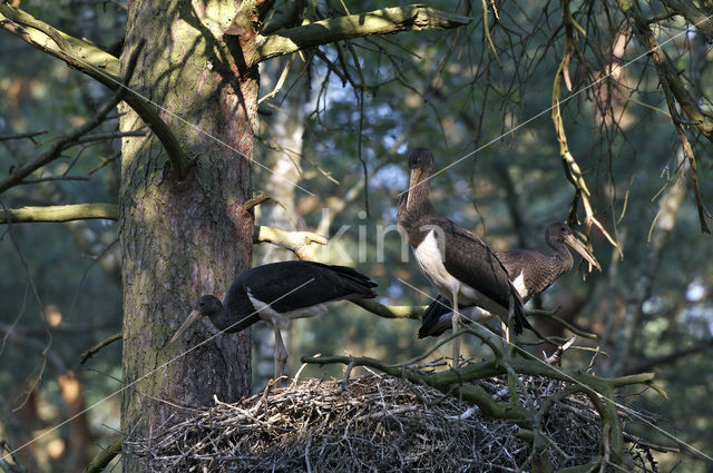
[[[266,24],[282,18],[291,3],[277,1]],[[304,4],[312,19],[384,7],[373,1]],[[326,247],[312,248],[316,259],[359,267],[379,284],[383,304],[426,305],[434,289],[410,253],[402,257],[393,228],[398,196],[408,181],[408,152],[426,146],[441,170],[432,179],[439,210],[496,250],[544,248],[545,227],[566,220],[575,197],[549,112],[565,48],[560,3],[495,4],[498,18],[492,4],[487,17],[494,49],[484,33],[481,2],[433,1],[429,6],[473,21],[448,32],[355,39],[264,63],[261,96],[277,89],[261,104],[255,160],[274,173],[254,166],[254,188],[273,200],[256,208],[257,223],[333,237]],[[120,1],[22,1],[21,8],[120,53],[126,21]],[[647,18],[664,11],[656,1],[642,2],[642,9]],[[565,366],[602,375],[655,371],[667,401],[644,392],[622,402],[645,408],[662,428],[711,455],[711,236],[701,230],[687,165],[651,57],[642,56],[645,48],[632,39],[613,2],[578,2],[570,10],[587,38],[579,37],[579,56],[569,65],[574,91],[563,92],[572,96],[563,104],[565,130],[596,218],[618,247],[593,229],[603,272],[573,270],[529,308],[559,308],[563,318],[599,335],[577,344],[608,356],[568,351]],[[682,77],[691,78],[706,109],[713,97],[713,53],[700,31],[686,32],[688,27],[676,16],[655,23],[660,41],[671,39],[666,53]],[[48,131],[0,141],[4,176],[91,117],[107,92],[10,35],[0,36],[0,135]],[[101,131],[116,131],[116,118]],[[701,193],[711,207],[713,148],[693,128],[688,138]],[[33,176],[64,180],[13,187],[0,196],[0,205],[115,203],[119,149],[118,139],[75,147]],[[120,344],[79,364],[84,351],[120,331],[120,255],[117,226],[107,220],[16,224],[1,231],[0,438],[18,446],[77,412],[77,398],[92,405],[120,387]],[[289,258],[294,255],[279,248],[254,248],[254,265]],[[538,326],[567,335],[540,319]],[[315,353],[407,361],[436,343],[418,339],[418,327],[417,321],[379,318],[340,303],[326,316],[291,326],[289,373],[297,372],[300,356]],[[272,373],[271,337],[270,327],[254,327],[255,390]],[[488,355],[475,339],[468,342],[466,354]],[[446,345],[434,357],[449,351]],[[340,375],[338,367],[309,367],[301,374]],[[81,387],[75,397],[67,392],[68,376]],[[118,396],[94,407],[85,442],[106,445],[116,435],[118,415]],[[64,426],[21,459],[40,471],[76,470],[91,450],[71,447],[72,428],[81,427]],[[639,433],[667,443],[645,424]],[[656,459],[661,471],[713,471],[712,463],[688,453]]]

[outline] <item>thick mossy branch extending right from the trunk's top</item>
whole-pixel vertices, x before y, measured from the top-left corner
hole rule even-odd
[[[262,62],[276,56],[289,55],[302,49],[350,38],[426,29],[446,30],[468,24],[470,20],[468,17],[460,17],[419,4],[384,8],[367,13],[329,18],[302,27],[277,31],[266,37],[258,36],[258,55],[254,62]],[[255,66],[255,63],[251,65],[251,67]]]

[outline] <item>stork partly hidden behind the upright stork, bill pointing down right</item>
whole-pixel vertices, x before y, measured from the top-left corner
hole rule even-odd
[[[539,249],[518,248],[508,252],[497,252],[496,256],[508,272],[512,285],[520,294],[522,302],[528,302],[535,294],[547,289],[559,276],[572,269],[574,259],[565,244],[572,246],[592,266],[598,268],[587,248],[575,237],[572,229],[563,223],[549,224],[545,230],[545,242],[553,253]],[[459,305],[459,313],[471,322],[485,322],[491,314],[476,306]],[[453,313],[448,298],[438,295],[423,313],[419,338],[439,336],[451,326]]]

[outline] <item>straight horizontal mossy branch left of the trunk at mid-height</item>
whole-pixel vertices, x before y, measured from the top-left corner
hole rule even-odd
[[[0,210],[0,224],[90,219],[117,220],[118,216],[119,207],[116,204],[52,205],[46,207],[22,207]]]

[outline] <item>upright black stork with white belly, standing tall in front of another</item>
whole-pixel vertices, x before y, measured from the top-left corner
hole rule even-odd
[[[529,328],[525,308],[508,273],[480,238],[440,215],[429,198],[433,155],[417,148],[409,157],[408,194],[399,203],[397,221],[406,230],[409,245],[426,277],[446,295],[453,306],[476,305],[502,322],[514,312],[515,333]],[[453,332],[459,314],[451,317]],[[453,339],[453,366],[460,361],[460,342]]]

